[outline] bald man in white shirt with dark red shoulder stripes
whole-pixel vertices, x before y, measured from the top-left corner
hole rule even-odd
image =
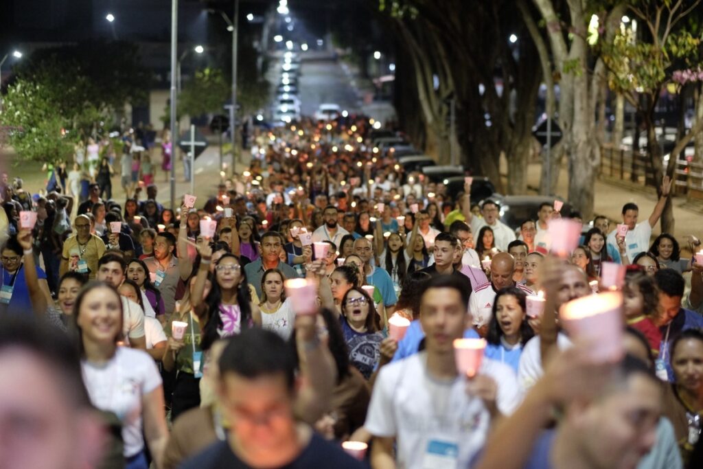
[[[524,291],[526,295],[534,292],[521,283],[515,283],[512,276],[515,274],[515,259],[508,252],[498,252],[491,262],[491,278],[489,283],[479,286],[474,290],[469,299],[469,312],[474,328],[481,337],[488,331],[488,323],[493,314],[493,303],[496,293],[501,288],[515,286]]]

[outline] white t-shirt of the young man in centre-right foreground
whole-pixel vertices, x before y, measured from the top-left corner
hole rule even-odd
[[[465,387],[463,376],[430,378],[425,352],[408,356],[381,368],[364,427],[375,437],[396,437],[399,468],[467,468],[486,442],[490,416]],[[437,449],[456,451],[456,465],[429,465],[427,456],[436,456]]]

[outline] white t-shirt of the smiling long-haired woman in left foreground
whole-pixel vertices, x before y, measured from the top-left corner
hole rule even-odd
[[[120,418],[124,456],[134,456],[144,446],[142,397],[161,386],[156,364],[146,352],[117,347],[107,364],[95,366],[82,360],[81,367],[91,402]]]

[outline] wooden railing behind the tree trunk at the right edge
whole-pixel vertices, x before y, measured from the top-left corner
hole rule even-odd
[[[602,146],[600,148],[600,176],[605,179],[648,186],[656,189],[656,181],[650,156],[646,151],[624,150]],[[703,164],[678,160],[674,169],[674,195],[703,200]]]

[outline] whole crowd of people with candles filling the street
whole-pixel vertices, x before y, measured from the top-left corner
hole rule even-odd
[[[674,233],[650,242],[671,181],[643,221],[632,203],[611,226],[546,202],[514,229],[470,177],[451,194],[372,137],[363,117],[259,131],[247,171],[173,209],[131,165],[107,175],[129,175],[124,202],[99,171],[83,195],[4,174],[0,458],[703,467],[703,258]],[[580,238],[556,252],[564,219]],[[624,352],[602,359],[562,314],[612,291]],[[460,339],[485,340],[475,373]]]

